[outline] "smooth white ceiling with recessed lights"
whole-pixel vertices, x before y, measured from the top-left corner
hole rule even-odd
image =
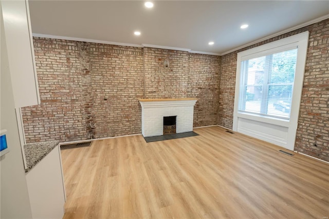
[[[329,1],[29,1],[32,32],[223,54],[313,20]],[[321,19],[319,19],[321,17]],[[240,29],[249,24],[247,29]],[[140,36],[134,31],[139,30]],[[209,46],[208,42],[214,45]]]

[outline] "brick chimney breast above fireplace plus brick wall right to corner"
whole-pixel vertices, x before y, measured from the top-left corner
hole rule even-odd
[[[165,67],[165,61],[169,67]],[[218,56],[144,48],[145,98],[197,98],[193,126],[217,124]]]

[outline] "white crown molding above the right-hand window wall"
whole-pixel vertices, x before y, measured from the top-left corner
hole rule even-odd
[[[231,49],[229,51],[223,52],[223,53],[220,54],[220,56],[224,56],[225,54],[234,52],[234,51],[239,50],[239,49],[243,49],[243,48],[245,48],[247,46],[251,46],[253,44],[256,44],[256,43],[259,43],[259,42],[262,42],[262,41],[271,39],[271,38],[276,37],[278,35],[281,35],[281,34],[284,34],[284,33],[288,33],[290,31],[297,30],[299,28],[306,27],[306,26],[311,25],[311,24],[315,24],[317,22],[323,21],[323,20],[328,19],[328,18],[329,18],[329,14],[324,15],[324,16],[321,16],[321,17],[318,17],[317,19],[314,19],[312,21],[308,21],[308,22],[305,22],[303,24],[300,24],[300,25],[297,25],[297,26],[294,26],[294,27],[290,27],[288,29],[282,30],[280,32],[277,32],[277,33],[274,33],[274,34],[271,34],[271,35],[268,35],[268,36],[265,36],[264,38],[261,38],[259,40],[256,40],[256,41],[253,41],[251,43],[245,44],[243,46],[239,46],[239,47],[236,47],[236,48]]]

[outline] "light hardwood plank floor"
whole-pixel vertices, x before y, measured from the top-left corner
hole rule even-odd
[[[326,218],[329,165],[218,126],[62,150],[64,218]]]

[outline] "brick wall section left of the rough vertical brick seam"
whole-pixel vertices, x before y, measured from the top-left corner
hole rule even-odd
[[[77,42],[34,39],[41,104],[22,108],[27,142],[86,139]]]

